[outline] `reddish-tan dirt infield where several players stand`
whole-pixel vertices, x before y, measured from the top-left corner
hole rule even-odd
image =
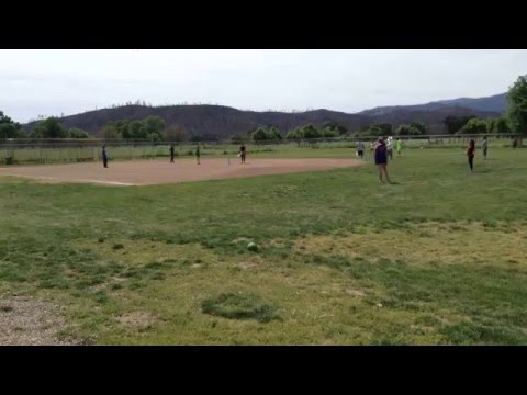
[[[363,165],[358,159],[251,159],[245,165],[236,159],[179,159],[117,161],[104,169],[101,162],[24,166],[0,168],[0,176],[16,176],[41,182],[79,182],[104,185],[152,185],[201,180],[221,180],[264,174],[329,170]]]

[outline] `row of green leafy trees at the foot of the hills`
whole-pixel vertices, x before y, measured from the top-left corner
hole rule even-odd
[[[507,112],[505,116],[495,119],[478,119],[475,115],[449,115],[444,120],[448,134],[502,134],[527,133],[527,76],[519,76],[509,87],[507,93]],[[425,135],[427,126],[422,122],[397,125],[390,123],[372,123],[363,126],[354,136],[389,136],[389,135]],[[108,122],[99,137],[106,139],[147,139],[152,142],[202,140],[204,137],[191,136],[180,125],[169,125],[159,116],[147,116],[142,121],[121,120]],[[258,126],[247,132],[254,142],[282,139],[281,131],[276,126]],[[313,124],[295,127],[284,133],[287,139],[328,138],[349,135],[346,127],[335,122],[322,126]],[[65,127],[60,119],[51,116],[36,122],[31,128],[24,129],[0,111],[0,138],[87,138],[89,134],[79,128]],[[239,137],[239,136],[236,136]]]

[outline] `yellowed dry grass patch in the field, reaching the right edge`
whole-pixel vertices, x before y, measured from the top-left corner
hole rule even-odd
[[[507,225],[507,233],[504,227],[489,227],[482,223],[429,222],[380,233],[310,236],[296,240],[293,249],[304,256],[344,256],[370,262],[390,259],[414,264],[518,264],[527,269],[527,226]]]

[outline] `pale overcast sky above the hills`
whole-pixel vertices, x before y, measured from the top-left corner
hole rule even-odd
[[[358,112],[505,92],[527,50],[3,50],[0,111],[25,123],[136,100]]]

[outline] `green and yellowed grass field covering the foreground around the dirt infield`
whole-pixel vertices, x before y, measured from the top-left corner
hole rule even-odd
[[[462,149],[407,149],[392,185],[373,165],[126,188],[1,177],[0,307],[51,301],[59,337],[101,345],[526,345],[527,150],[489,156],[470,173]]]

